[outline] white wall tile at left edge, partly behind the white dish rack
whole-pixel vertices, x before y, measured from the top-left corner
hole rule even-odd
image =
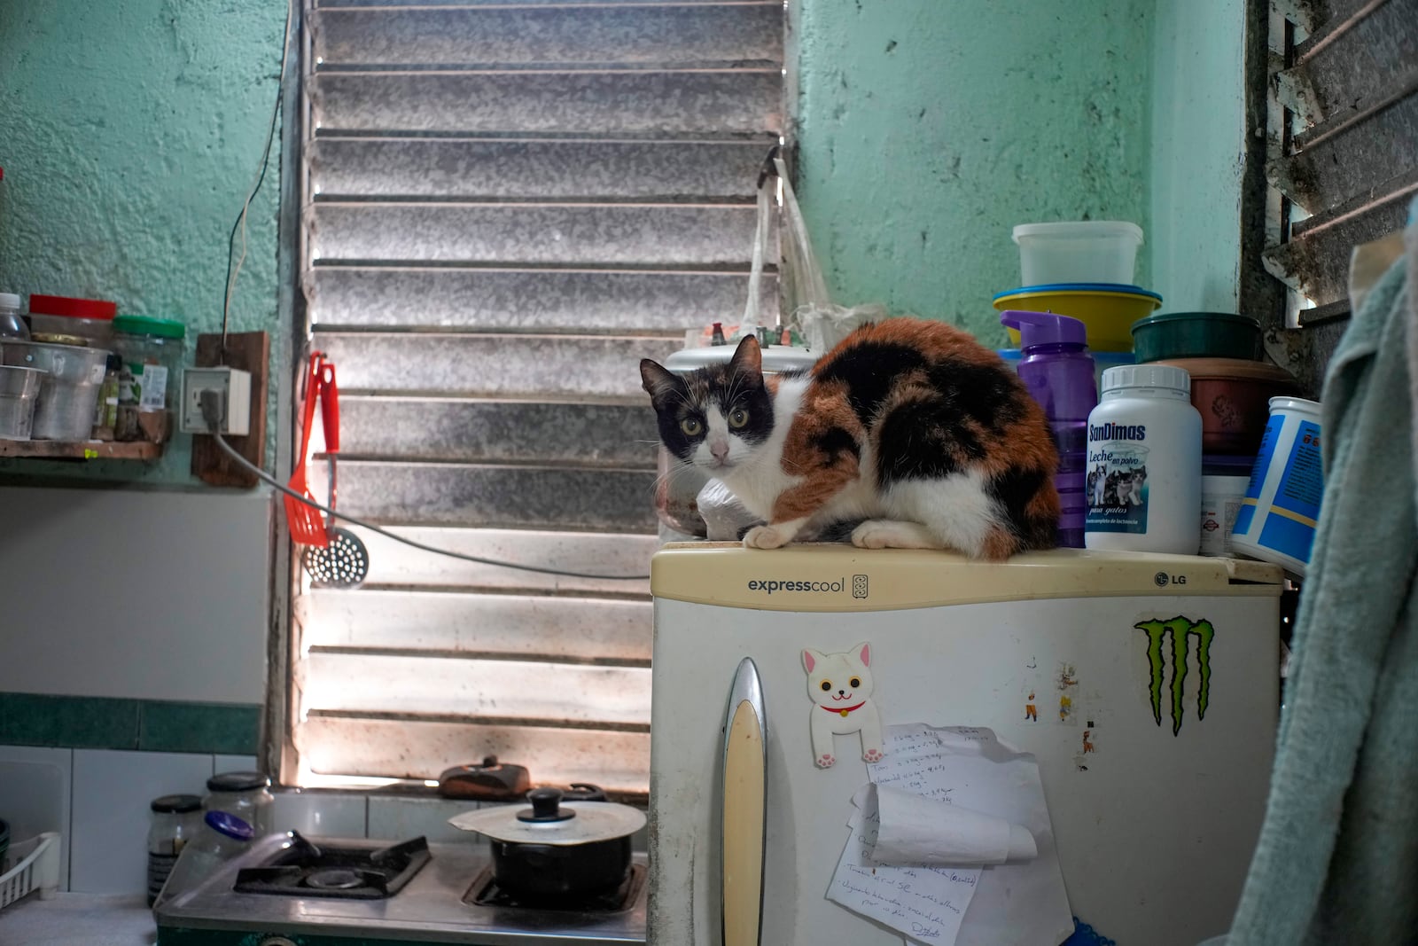
[[[10,823],[10,841],[28,841],[41,831],[60,833],[60,889],[69,889],[69,791],[72,749],[0,746],[0,818]]]

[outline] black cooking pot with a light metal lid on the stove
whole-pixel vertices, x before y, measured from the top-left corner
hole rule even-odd
[[[448,824],[488,835],[493,881],[515,898],[556,902],[614,891],[631,874],[630,837],[645,827],[645,813],[613,801],[563,803],[562,794],[533,789],[530,808],[499,804]]]

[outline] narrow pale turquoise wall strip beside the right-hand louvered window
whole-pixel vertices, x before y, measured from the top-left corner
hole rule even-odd
[[[1171,312],[1235,312],[1245,0],[1157,0],[1153,51],[1153,288]]]

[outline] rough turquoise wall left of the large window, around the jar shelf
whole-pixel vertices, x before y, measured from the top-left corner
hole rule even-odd
[[[0,3],[0,291],[113,299],[221,326],[227,234],[277,95],[285,0]],[[231,330],[272,333],[279,142],[248,216]],[[274,360],[277,360],[274,359]],[[278,362],[279,363],[279,362]],[[272,400],[274,404],[274,400]],[[4,474],[194,482],[160,464],[11,461]]]

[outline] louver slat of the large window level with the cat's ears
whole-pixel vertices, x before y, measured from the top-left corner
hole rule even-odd
[[[642,397],[640,360],[682,340],[557,335],[322,332],[350,393]]]

